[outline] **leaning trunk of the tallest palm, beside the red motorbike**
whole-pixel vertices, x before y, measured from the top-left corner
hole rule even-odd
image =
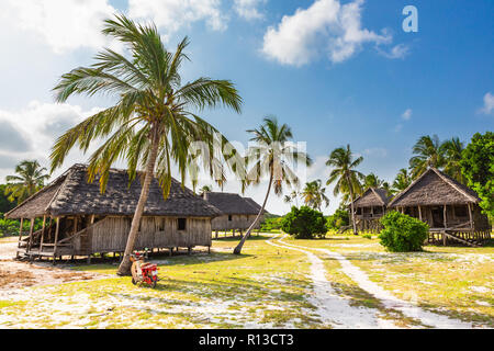
[[[137,203],[137,207],[135,208],[134,217],[132,218],[131,231],[128,233],[125,253],[122,262],[120,263],[119,271],[116,272],[116,274],[119,275],[131,275],[131,253],[134,250],[134,244],[135,239],[137,238],[137,230],[139,228],[141,218],[143,217],[144,206],[149,195],[149,186],[153,178],[155,177],[155,165],[156,158],[158,156],[158,140],[156,132],[153,135],[151,144],[151,151],[146,165],[146,174],[144,177],[143,190],[141,191],[139,201]]]

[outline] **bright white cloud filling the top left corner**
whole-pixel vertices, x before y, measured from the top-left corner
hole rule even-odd
[[[109,45],[102,21],[115,9],[108,0],[2,0],[0,29],[31,32],[57,53]]]

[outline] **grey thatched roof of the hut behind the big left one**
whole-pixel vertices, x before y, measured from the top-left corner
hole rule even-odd
[[[261,207],[254,200],[235,193],[207,192],[205,199],[225,215],[257,215]]]

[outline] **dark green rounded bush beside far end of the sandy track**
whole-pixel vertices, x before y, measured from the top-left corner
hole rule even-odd
[[[324,215],[307,206],[292,207],[292,211],[284,216],[281,229],[296,239],[313,239],[314,235],[327,233]]]

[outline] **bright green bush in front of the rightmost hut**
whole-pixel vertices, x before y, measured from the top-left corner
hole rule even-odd
[[[422,251],[428,225],[398,212],[390,212],[381,218],[384,229],[379,234],[381,245],[391,252]]]

